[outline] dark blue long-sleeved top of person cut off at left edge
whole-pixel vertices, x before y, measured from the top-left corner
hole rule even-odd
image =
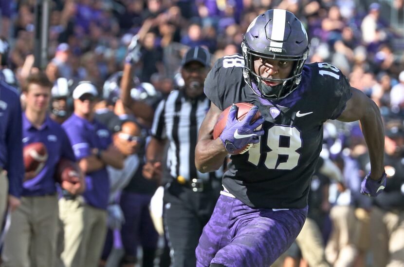
[[[21,103],[16,89],[0,80],[0,167],[7,171],[8,193],[19,197],[22,191]]]

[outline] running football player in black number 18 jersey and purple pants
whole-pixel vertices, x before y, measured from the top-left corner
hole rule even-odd
[[[197,266],[270,266],[292,244],[307,216],[310,179],[328,119],[361,122],[371,162],[362,193],[376,196],[386,184],[378,107],[338,68],[304,64],[309,41],[293,13],[274,9],[259,15],[241,47],[242,56],[220,58],[206,78],[204,91],[212,103],[195,164],[211,172],[228,153],[254,145],[231,156],[224,189],[196,249]],[[255,105],[241,121],[232,105],[239,102]],[[214,140],[215,123],[231,105]],[[262,117],[250,123],[258,110]]]

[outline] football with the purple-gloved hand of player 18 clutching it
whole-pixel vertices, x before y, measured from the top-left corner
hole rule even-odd
[[[219,115],[213,138],[219,137],[229,154],[242,154],[259,142],[259,136],[264,134],[264,130],[261,130],[263,122],[257,106],[250,103],[233,104]]]

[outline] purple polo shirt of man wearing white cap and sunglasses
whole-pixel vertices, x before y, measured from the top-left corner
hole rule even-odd
[[[69,136],[77,161],[91,156],[93,148],[105,150],[112,143],[110,131],[95,119],[90,122],[73,114],[62,127]],[[83,197],[87,204],[105,210],[109,193],[110,180],[106,168],[86,173],[86,191]]]

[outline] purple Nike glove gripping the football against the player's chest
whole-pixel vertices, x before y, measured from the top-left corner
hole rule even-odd
[[[251,119],[258,112],[257,106],[252,107],[241,121],[236,117],[238,111],[239,108],[236,105],[232,105],[227,117],[226,126],[219,136],[229,153],[233,153],[235,150],[241,149],[248,144],[257,144],[259,142],[258,136],[264,134],[264,130],[254,130],[265,121],[264,118],[260,117],[254,123],[250,123]]]

